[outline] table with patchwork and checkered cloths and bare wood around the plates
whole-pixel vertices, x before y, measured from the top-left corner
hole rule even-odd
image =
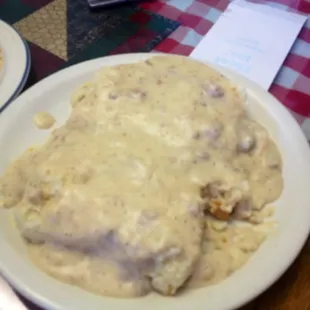
[[[20,10],[16,10],[17,3]],[[228,3],[228,0],[160,0],[90,17],[83,0],[0,0],[0,18],[14,24],[29,42],[34,64],[28,83],[31,85],[56,70],[104,55],[151,50],[189,55]],[[268,5],[310,14],[309,0],[274,0],[268,1]],[[45,20],[49,23],[44,24],[42,36],[34,35],[36,32],[30,28]],[[98,23],[104,27],[98,28]],[[51,33],[56,24],[57,38]],[[79,27],[79,33],[73,31],[81,25],[85,27]],[[91,34],[86,41],[85,30]],[[49,36],[55,44],[46,41]],[[270,92],[291,110],[310,140],[310,21],[301,31]],[[308,240],[286,274],[240,310],[309,310],[309,259]],[[30,310],[39,309],[25,303]]]

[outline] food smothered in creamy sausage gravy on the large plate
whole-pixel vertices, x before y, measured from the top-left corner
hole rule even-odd
[[[174,295],[226,278],[265,239],[281,157],[218,72],[153,57],[100,70],[71,103],[0,180],[43,271],[102,295]]]

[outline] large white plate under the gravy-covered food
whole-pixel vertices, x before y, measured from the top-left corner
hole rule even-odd
[[[0,174],[26,147],[47,137],[48,132],[32,124],[36,112],[51,112],[59,125],[69,114],[73,88],[88,80],[100,66],[147,57],[151,55],[128,54],[84,62],[46,78],[23,93],[0,115]],[[254,298],[279,278],[299,253],[309,232],[310,150],[298,124],[275,98],[240,76],[227,71],[224,74],[246,89],[249,111],[268,129],[284,160],[285,188],[275,203],[279,227],[253,258],[220,284],[176,298],[155,294],[140,299],[103,298],[60,283],[33,266],[7,211],[2,210],[0,270],[18,291],[49,310],[230,310]]]

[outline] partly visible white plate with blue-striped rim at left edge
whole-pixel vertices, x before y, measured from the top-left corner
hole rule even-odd
[[[26,41],[6,22],[0,20],[0,49],[4,67],[0,70],[0,112],[22,91],[27,81],[31,58]]]

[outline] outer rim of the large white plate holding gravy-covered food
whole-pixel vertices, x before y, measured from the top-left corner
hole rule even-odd
[[[40,85],[44,86],[44,87],[47,87],[49,84],[50,84],[50,80],[54,80],[56,79],[56,77],[58,75],[70,75],[70,72],[74,72],[77,67],[85,67],[87,68],[87,65],[88,64],[91,64],[91,63],[98,63],[98,65],[100,65],[100,61],[103,62],[103,59],[105,60],[105,65],[106,63],[108,62],[107,58],[108,59],[111,59],[111,58],[119,58],[119,59],[126,59],[127,57],[133,57],[133,55],[136,56],[137,60],[142,60],[143,57],[152,57],[152,56],[160,56],[160,55],[164,55],[162,53],[136,53],[136,54],[121,54],[121,55],[113,55],[113,56],[106,56],[106,57],[100,57],[100,58],[96,58],[96,59],[92,59],[92,60],[88,60],[88,61],[85,61],[85,62],[81,62],[79,64],[76,64],[74,66],[70,66],[68,68],[64,68],[60,71],[57,71],[55,73],[53,73],[52,75],[44,78],[43,80],[41,80],[39,83],[33,85],[32,87],[30,87],[28,90],[26,90],[22,96],[20,96],[17,100],[18,101],[22,101],[23,100],[23,96],[26,96],[28,94],[31,95],[31,93],[35,93],[35,88],[38,88],[40,87]],[[171,54],[168,54],[168,55],[171,55]],[[199,61],[199,60],[198,60]],[[203,62],[203,61],[199,61],[201,63],[206,63],[206,62]],[[124,63],[128,63],[128,61],[124,60]],[[214,66],[212,64],[209,64],[209,63],[206,63],[208,65],[211,65],[211,67],[215,68],[216,70],[218,71],[224,71],[224,73],[226,72],[230,72],[231,70],[227,70],[227,69],[224,69],[224,68],[218,68],[217,66]],[[105,66],[103,64],[101,64],[101,67],[102,66]],[[262,97],[265,97],[265,98],[269,98],[270,101],[273,101],[274,104],[277,105],[277,109],[278,109],[278,112],[280,112],[281,114],[285,115],[286,118],[289,118],[290,119],[290,125],[294,126],[296,129],[298,128],[298,131],[299,131],[299,137],[298,139],[300,140],[300,143],[302,144],[302,147],[303,149],[305,150],[305,153],[306,153],[306,156],[310,159],[310,148],[308,146],[308,142],[300,128],[300,126],[298,125],[297,121],[294,119],[294,117],[289,113],[289,111],[274,97],[272,96],[270,93],[266,92],[265,90],[263,90],[261,87],[259,87],[257,84],[255,84],[254,82],[251,82],[249,81],[248,79],[244,78],[244,77],[241,77],[239,74],[235,73],[235,72],[232,72],[231,71],[231,74],[232,74],[232,77],[233,76],[236,76],[238,77],[238,80],[241,80],[241,82],[238,82],[236,84],[243,84],[246,83],[246,88],[251,88],[255,93],[258,93],[260,94]],[[229,75],[228,75],[229,76]],[[231,78],[231,76],[229,76],[229,78]],[[50,84],[52,85],[52,84]],[[43,88],[44,88],[43,87]],[[10,107],[8,109],[6,109],[7,112],[9,111],[13,111],[14,109],[18,109],[17,107],[15,106],[21,106],[20,104],[13,104],[13,105],[10,105]],[[6,112],[5,111],[5,112]],[[5,113],[2,113],[0,115],[0,121],[3,121],[3,114]],[[2,117],[2,118],[1,118]],[[0,126],[1,127],[1,126]],[[310,166],[309,166],[310,167]],[[310,216],[310,210],[307,214],[308,216]],[[308,218],[310,219],[310,218]],[[304,227],[303,228],[303,234],[297,236],[296,239],[297,240],[297,245],[294,244],[294,253],[290,253],[289,254],[289,259],[285,259],[285,262],[282,263],[281,267],[278,267],[277,268],[277,273],[274,274],[273,277],[270,277],[268,281],[265,281],[263,284],[260,284],[259,287],[256,287],[255,290],[253,290],[253,292],[251,293],[248,293],[246,294],[246,296],[242,297],[242,298],[239,298],[238,300],[235,301],[235,303],[229,307],[225,307],[225,308],[220,308],[221,310],[228,310],[228,309],[235,309],[235,307],[240,307],[244,304],[246,304],[247,302],[253,300],[255,297],[259,296],[262,292],[264,292],[265,290],[267,290],[272,284],[274,284],[282,275],[283,273],[289,268],[289,266],[292,264],[292,262],[296,259],[296,257],[299,255],[302,247],[304,246],[306,240],[307,240],[307,237],[309,235],[309,231],[310,231],[310,221],[308,221],[308,225],[307,227]],[[3,272],[4,276],[7,277],[8,274],[10,274],[10,272],[6,272],[4,271],[5,268],[3,268],[2,264],[0,265],[0,269],[1,269],[1,272]],[[41,307],[45,307],[47,309],[65,309],[63,308],[63,305],[59,304],[59,302],[54,302],[53,300],[50,300],[50,299],[47,299],[45,296],[43,295],[40,295],[38,294],[37,292],[35,292],[34,290],[32,290],[29,286],[27,286],[26,284],[24,284],[24,282],[21,282],[19,281],[18,279],[14,279],[12,280],[13,277],[10,277],[9,276],[9,282],[25,297],[27,297],[28,299],[32,300],[34,303],[40,305]],[[231,308],[232,307],[232,308]],[[214,309],[216,310],[216,309]]]

